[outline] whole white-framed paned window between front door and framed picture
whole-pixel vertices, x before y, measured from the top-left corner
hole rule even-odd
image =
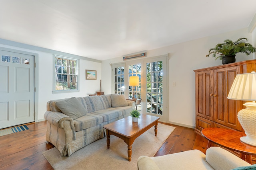
[[[78,59],[54,55],[53,92],[78,91]]]

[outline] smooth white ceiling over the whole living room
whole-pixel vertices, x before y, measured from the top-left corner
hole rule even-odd
[[[105,60],[248,27],[256,0],[0,0],[0,38]]]

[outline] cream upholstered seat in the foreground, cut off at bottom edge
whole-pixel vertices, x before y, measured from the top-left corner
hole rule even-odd
[[[206,154],[188,150],[163,156],[140,156],[137,165],[138,170],[256,170],[256,164],[251,165],[220,147],[210,147]]]

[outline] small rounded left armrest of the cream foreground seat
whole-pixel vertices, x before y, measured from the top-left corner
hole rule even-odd
[[[156,163],[148,156],[140,156],[137,160],[137,166],[138,170],[160,170]]]

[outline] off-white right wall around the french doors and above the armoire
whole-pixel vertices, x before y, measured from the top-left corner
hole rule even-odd
[[[205,57],[210,48],[225,39],[235,41],[246,37],[252,43],[252,34],[248,29],[239,29],[204,37],[193,41],[170,45],[159,49],[147,51],[147,57],[154,57],[169,53],[169,122],[176,125],[193,127],[195,125],[195,69],[221,65],[221,61],[213,57]],[[125,54],[124,54],[125,55]],[[236,61],[252,59],[252,55],[237,54]],[[110,63],[123,62],[122,57],[102,61],[103,90],[111,93],[111,67]],[[172,83],[176,82],[176,86]]]

